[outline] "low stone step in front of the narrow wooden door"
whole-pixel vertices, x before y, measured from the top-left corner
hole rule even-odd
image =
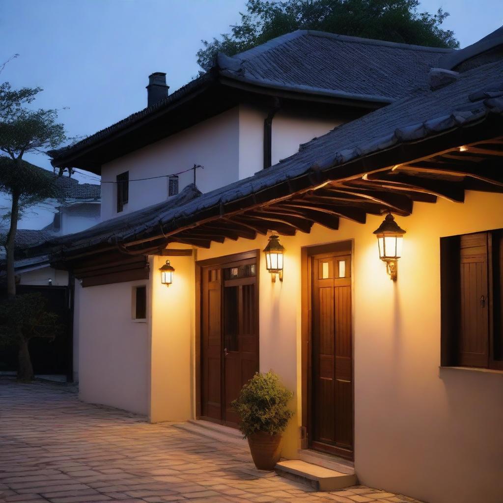
[[[275,470],[281,477],[309,485],[316,491],[335,491],[357,484],[355,474],[329,470],[300,459],[281,461],[276,465]]]

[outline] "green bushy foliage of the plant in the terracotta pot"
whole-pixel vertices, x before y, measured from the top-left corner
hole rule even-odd
[[[239,415],[239,430],[244,437],[256,432],[283,433],[293,415],[287,407],[292,397],[293,393],[281,386],[272,370],[256,373],[231,404]]]

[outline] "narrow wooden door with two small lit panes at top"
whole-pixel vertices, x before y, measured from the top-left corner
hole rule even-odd
[[[313,449],[353,457],[351,255],[311,258]]]

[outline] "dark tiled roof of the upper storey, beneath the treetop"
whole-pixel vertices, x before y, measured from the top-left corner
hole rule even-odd
[[[421,85],[428,69],[451,51],[298,30],[232,57],[219,54],[214,68],[164,100],[49,154],[57,159],[98,143],[186,99],[218,76],[264,88],[389,103]]]

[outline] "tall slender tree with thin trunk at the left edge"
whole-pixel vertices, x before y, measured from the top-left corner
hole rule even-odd
[[[26,162],[23,155],[56,148],[66,140],[64,126],[57,123],[57,110],[28,107],[40,88],[13,90],[0,85],[0,191],[11,196],[10,227],[7,233],[7,293],[16,296],[14,249],[20,210],[47,198],[57,198],[54,176]]]

